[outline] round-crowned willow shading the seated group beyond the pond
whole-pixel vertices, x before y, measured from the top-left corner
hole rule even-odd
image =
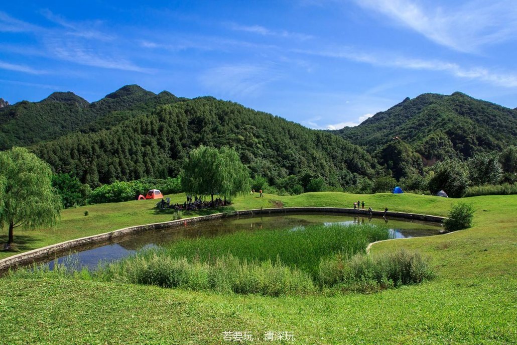
[[[248,168],[232,148],[200,146],[190,152],[180,173],[181,187],[187,193],[214,194],[233,198],[249,189]]]

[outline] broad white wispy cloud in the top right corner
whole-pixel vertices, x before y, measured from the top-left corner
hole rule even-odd
[[[382,13],[437,44],[461,52],[515,39],[517,6],[514,0],[473,1],[461,7],[427,6],[412,0],[354,0],[359,6]]]

